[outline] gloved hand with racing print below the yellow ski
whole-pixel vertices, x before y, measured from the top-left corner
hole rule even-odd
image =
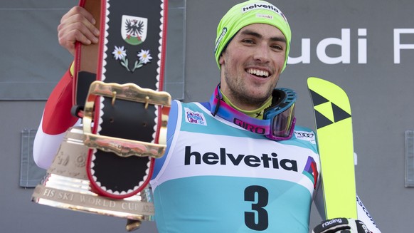
[[[312,233],[370,233],[363,222],[356,219],[329,219],[317,225]]]

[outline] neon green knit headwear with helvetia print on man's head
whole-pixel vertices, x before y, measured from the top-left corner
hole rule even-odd
[[[214,48],[218,68],[221,68],[218,60],[223,49],[240,29],[250,24],[269,24],[282,31],[287,41],[285,65],[282,71],[285,70],[290,51],[290,39],[292,38],[290,26],[285,15],[276,6],[267,1],[258,0],[245,1],[233,6],[218,24],[216,47]]]

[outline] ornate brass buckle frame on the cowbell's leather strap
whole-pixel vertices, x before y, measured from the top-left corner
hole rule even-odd
[[[147,108],[149,104],[161,105],[163,110],[160,110],[158,115],[158,117],[161,117],[158,144],[124,138],[113,138],[92,133],[95,100],[97,100],[99,96],[112,98],[112,105],[115,105],[117,99],[145,103],[145,108]],[[139,157],[162,157],[166,148],[166,123],[168,121],[170,106],[171,95],[164,91],[140,88],[134,83],[121,85],[118,83],[94,81],[90,85],[85,103],[83,116],[83,133],[85,138],[83,143],[88,147],[96,148],[98,150],[114,152],[121,157],[129,157],[132,155]]]

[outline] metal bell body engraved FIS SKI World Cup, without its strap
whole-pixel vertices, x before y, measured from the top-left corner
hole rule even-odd
[[[135,224],[151,221],[154,205],[149,186],[125,199],[111,199],[91,191],[85,169],[89,147],[84,145],[84,138],[81,128],[68,130],[45,179],[34,190],[32,201],[51,207],[127,218]],[[130,228],[127,225],[127,230]]]

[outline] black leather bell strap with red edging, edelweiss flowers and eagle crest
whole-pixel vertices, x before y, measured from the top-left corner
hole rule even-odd
[[[92,191],[111,198],[147,186],[164,155],[171,96],[161,91],[166,0],[81,0],[100,29],[97,45],[78,43],[75,115],[83,117]]]

